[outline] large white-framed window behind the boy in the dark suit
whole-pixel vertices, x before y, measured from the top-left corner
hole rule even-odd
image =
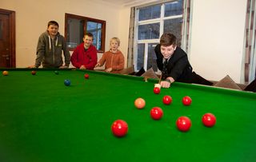
[[[183,0],[138,7],[135,11],[134,69],[152,67],[158,71],[154,47],[164,32],[173,33],[181,45],[182,23]]]

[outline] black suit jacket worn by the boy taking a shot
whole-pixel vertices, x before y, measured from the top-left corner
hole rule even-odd
[[[160,44],[156,45],[154,52],[157,56],[158,69],[162,71],[162,53],[160,49]],[[177,46],[173,55],[170,57],[167,65],[168,77],[173,77],[175,81],[181,81],[190,83],[192,77],[192,67],[188,61],[185,51]],[[166,78],[162,78],[166,79]]]

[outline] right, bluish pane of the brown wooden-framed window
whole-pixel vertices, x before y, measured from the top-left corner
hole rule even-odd
[[[97,22],[87,22],[87,31],[94,35],[94,42],[96,49],[102,48],[102,24]]]

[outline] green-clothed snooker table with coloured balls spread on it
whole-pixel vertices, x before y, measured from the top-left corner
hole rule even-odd
[[[79,69],[7,69],[0,75],[0,161],[256,161],[256,94],[175,82],[154,94],[157,80]],[[84,74],[90,75],[89,79]],[[70,79],[71,85],[64,85]],[[170,95],[170,105],[162,97]],[[182,105],[190,96],[192,104]],[[142,97],[144,109],[134,100]],[[150,109],[163,117],[154,121]],[[213,113],[212,128],[202,115]],[[176,127],[190,117],[188,132]],[[128,124],[116,137],[111,125]]]

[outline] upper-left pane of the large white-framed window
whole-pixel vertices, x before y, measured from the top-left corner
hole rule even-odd
[[[138,21],[160,18],[161,6],[148,6],[139,10]]]

